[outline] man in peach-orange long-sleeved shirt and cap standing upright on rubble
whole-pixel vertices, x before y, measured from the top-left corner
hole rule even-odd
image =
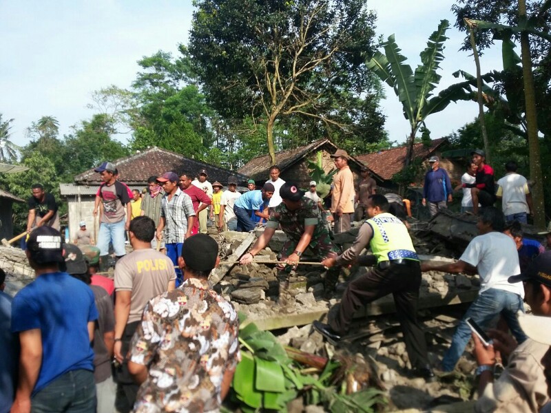
[[[331,195],[331,213],[335,221],[335,234],[349,231],[354,213],[354,176],[349,167],[349,154],[337,149],[331,158],[335,160],[338,171],[333,176],[333,195]]]

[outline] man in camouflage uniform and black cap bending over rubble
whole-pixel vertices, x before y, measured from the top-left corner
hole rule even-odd
[[[296,268],[306,248],[310,248],[321,260],[336,258],[340,254],[340,250],[331,241],[329,229],[318,204],[304,197],[304,191],[300,191],[292,182],[282,185],[280,195],[282,203],[270,213],[264,233],[258,237],[256,243],[251,247],[251,251],[243,255],[240,264],[252,262],[253,257],[268,245],[280,225],[288,238],[281,251],[281,261],[287,264],[285,268],[287,272]],[[324,282],[326,297],[330,297],[333,293],[339,272],[339,267],[327,271]]]

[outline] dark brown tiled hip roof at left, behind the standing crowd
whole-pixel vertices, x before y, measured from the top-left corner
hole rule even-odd
[[[228,169],[215,167],[200,160],[185,158],[179,153],[152,147],[143,152],[136,153],[126,158],[121,158],[112,161],[118,169],[118,173],[122,182],[126,184],[145,184],[149,176],[160,176],[166,171],[176,171],[177,173],[189,171],[190,173],[198,173],[200,169],[206,169],[209,176],[209,182],[215,180],[222,184],[227,184],[229,176],[237,176],[238,182],[247,182],[248,177],[229,171]],[[89,169],[74,177],[77,184],[93,185],[100,182],[99,173],[94,172],[94,169]]]

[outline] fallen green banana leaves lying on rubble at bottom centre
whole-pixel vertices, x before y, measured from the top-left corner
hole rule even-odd
[[[373,388],[350,395],[337,391],[329,384],[337,361],[329,361],[319,377],[303,374],[271,332],[250,323],[239,335],[242,359],[233,376],[231,397],[243,412],[287,412],[287,403],[301,394],[308,403],[324,403],[333,413],[373,412],[375,404],[385,402],[382,392]]]

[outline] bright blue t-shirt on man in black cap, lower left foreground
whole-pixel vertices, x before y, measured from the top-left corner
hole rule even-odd
[[[72,370],[94,371],[88,322],[98,318],[94,293],[67,273],[39,275],[13,299],[12,331],[39,328],[42,364],[32,394]]]

